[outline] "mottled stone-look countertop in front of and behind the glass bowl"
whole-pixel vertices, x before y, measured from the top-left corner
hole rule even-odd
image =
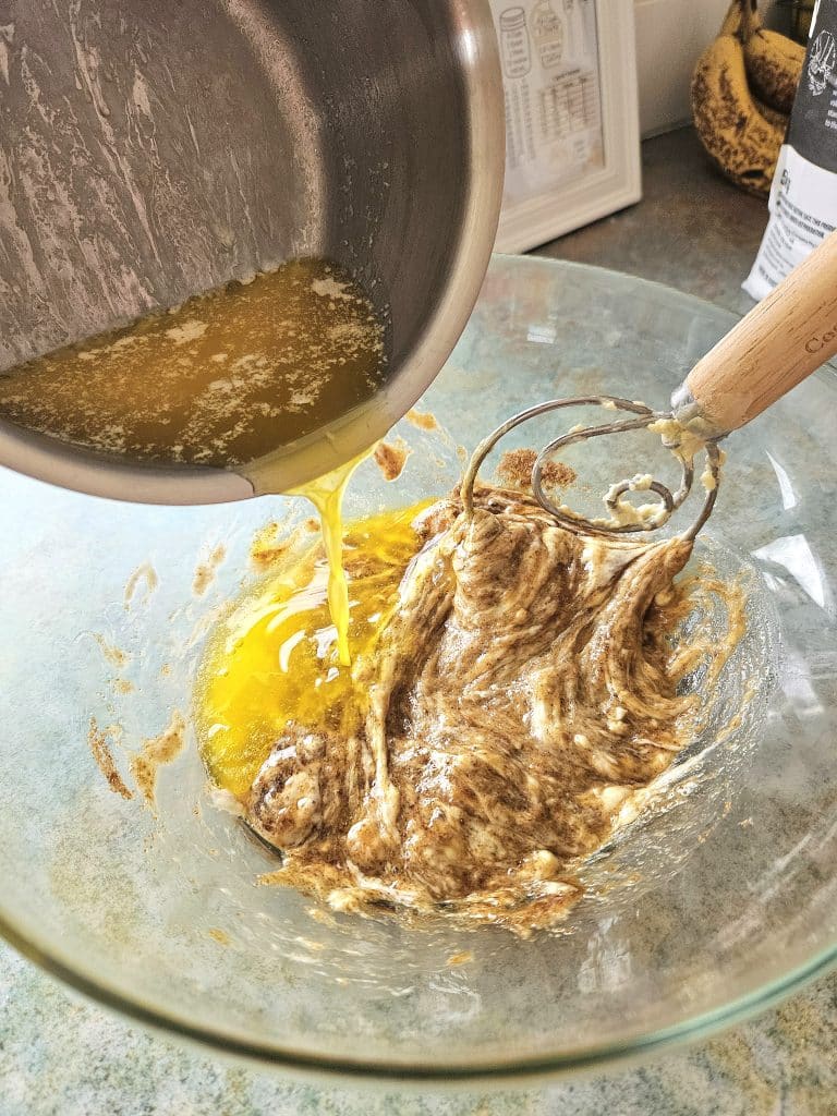
[[[705,165],[691,131],[644,145],[645,200],[546,246],[739,311],[766,206]],[[0,1116],[834,1116],[837,974],[747,1026],[633,1069],[477,1095],[300,1085],[147,1035],[0,946]]]

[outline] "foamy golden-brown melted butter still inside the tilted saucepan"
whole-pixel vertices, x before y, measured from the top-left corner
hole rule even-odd
[[[0,373],[0,416],[106,453],[230,468],[366,402],[384,363],[360,290],[297,260]]]

